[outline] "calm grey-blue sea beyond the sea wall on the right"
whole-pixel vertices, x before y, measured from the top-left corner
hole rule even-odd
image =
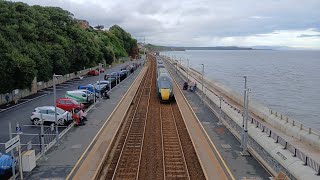
[[[320,51],[187,50],[161,55],[181,59],[240,95],[244,78],[257,101],[305,126],[320,130]]]

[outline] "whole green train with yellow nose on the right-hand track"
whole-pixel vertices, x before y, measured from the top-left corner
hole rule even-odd
[[[157,95],[161,102],[174,100],[173,80],[165,68],[163,61],[157,56]]]

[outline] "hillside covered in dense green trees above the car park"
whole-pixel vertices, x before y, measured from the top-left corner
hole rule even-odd
[[[67,74],[103,61],[134,56],[137,41],[121,27],[83,28],[58,7],[29,6],[0,0],[0,93],[30,86],[36,76]]]

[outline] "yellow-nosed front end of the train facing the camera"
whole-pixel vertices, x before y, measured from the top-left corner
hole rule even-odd
[[[157,80],[158,97],[162,102],[170,102],[173,98],[172,79],[168,75],[161,75]]]

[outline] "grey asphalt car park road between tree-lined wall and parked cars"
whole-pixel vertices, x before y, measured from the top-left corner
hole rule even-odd
[[[119,64],[112,68],[106,69],[105,73],[101,73],[100,80],[103,80],[103,77],[105,74],[111,73],[113,71],[119,71],[123,66],[128,64],[132,64],[132,62],[131,61],[125,62],[124,64]],[[64,94],[66,91],[77,89],[79,85],[94,83],[98,80],[99,80],[99,76],[87,76],[87,77],[84,77],[83,79],[77,78],[77,79],[64,82],[62,84],[58,84],[56,86],[57,99],[64,97]],[[48,88],[45,91],[39,91],[36,96],[38,95],[41,95],[41,97],[0,113],[0,143],[5,143],[9,140],[9,122],[12,123],[13,132],[15,132],[16,123],[19,123],[23,133],[30,133],[30,134],[40,133],[40,127],[28,126],[28,125],[32,125],[32,122],[30,121],[30,116],[32,111],[36,107],[54,105],[52,87]],[[59,128],[59,131],[61,131],[61,129],[62,128]],[[22,135],[21,136],[22,144],[26,144],[31,138],[36,139],[32,141],[33,143],[37,142],[39,139],[38,136]],[[3,144],[0,144],[0,152],[4,152]]]

